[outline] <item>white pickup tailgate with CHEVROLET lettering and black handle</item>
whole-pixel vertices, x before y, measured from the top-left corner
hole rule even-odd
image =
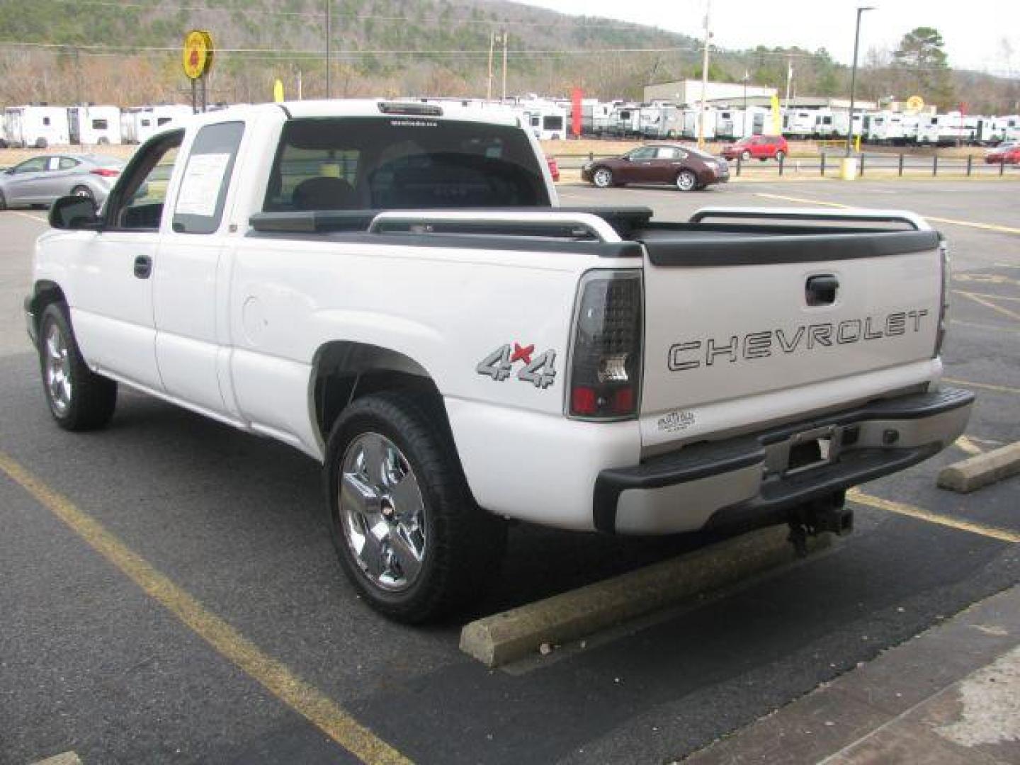
[[[913,381],[930,378],[935,232],[705,233],[645,247],[646,449],[728,427],[714,414],[722,402],[740,400],[740,426],[752,429],[889,390],[876,379],[903,385],[879,370],[915,365]]]

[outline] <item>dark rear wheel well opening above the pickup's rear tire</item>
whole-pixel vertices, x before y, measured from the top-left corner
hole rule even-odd
[[[449,427],[443,397],[428,372],[397,351],[363,343],[328,343],[315,354],[312,397],[315,424],[324,444],[334,423],[351,403],[384,391],[414,396]]]

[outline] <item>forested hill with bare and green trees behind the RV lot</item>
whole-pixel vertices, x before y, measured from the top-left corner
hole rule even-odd
[[[212,101],[324,93],[325,0],[0,0],[0,103],[91,101],[121,106],[187,100],[181,45],[192,29],[217,47]],[[508,0],[332,0],[334,96],[484,96],[491,35],[508,36],[508,94],[640,98],[648,83],[701,76],[700,42],[614,19],[568,16]],[[906,34],[908,31],[904,31]],[[502,44],[492,93],[502,93]],[[871,52],[859,95],[906,97],[923,88],[885,52]],[[709,75],[784,87],[787,62],[800,95],[846,95],[848,67],[823,49],[714,51]],[[952,63],[952,62],[950,62]],[[920,71],[920,70],[919,70]],[[949,74],[950,72],[947,72]],[[900,93],[900,91],[903,93]],[[1018,111],[1016,81],[953,73],[937,98],[971,111]],[[923,93],[922,93],[923,95]],[[930,94],[929,94],[930,96]]]

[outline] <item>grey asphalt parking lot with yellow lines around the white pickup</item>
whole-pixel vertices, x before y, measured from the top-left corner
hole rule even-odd
[[[1018,479],[956,495],[934,476],[1020,441],[1018,191],[561,186],[563,204],[661,218],[810,204],[930,216],[955,265],[947,376],[979,398],[959,446],[864,487],[886,502],[857,505],[855,533],[831,550],[505,670],[460,653],[463,621],[698,541],[515,526],[475,614],[392,624],[343,579],[318,466],[297,452],[131,393],[105,431],[56,428],[20,312],[44,213],[0,213],[0,762],[670,761],[1017,583],[1017,545],[989,531],[1020,533]],[[899,511],[911,508],[937,522]]]

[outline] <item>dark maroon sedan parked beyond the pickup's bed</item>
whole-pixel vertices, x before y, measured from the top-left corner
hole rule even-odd
[[[683,144],[649,144],[622,157],[596,159],[580,176],[600,189],[626,184],[669,184],[683,192],[729,181],[726,160]]]

